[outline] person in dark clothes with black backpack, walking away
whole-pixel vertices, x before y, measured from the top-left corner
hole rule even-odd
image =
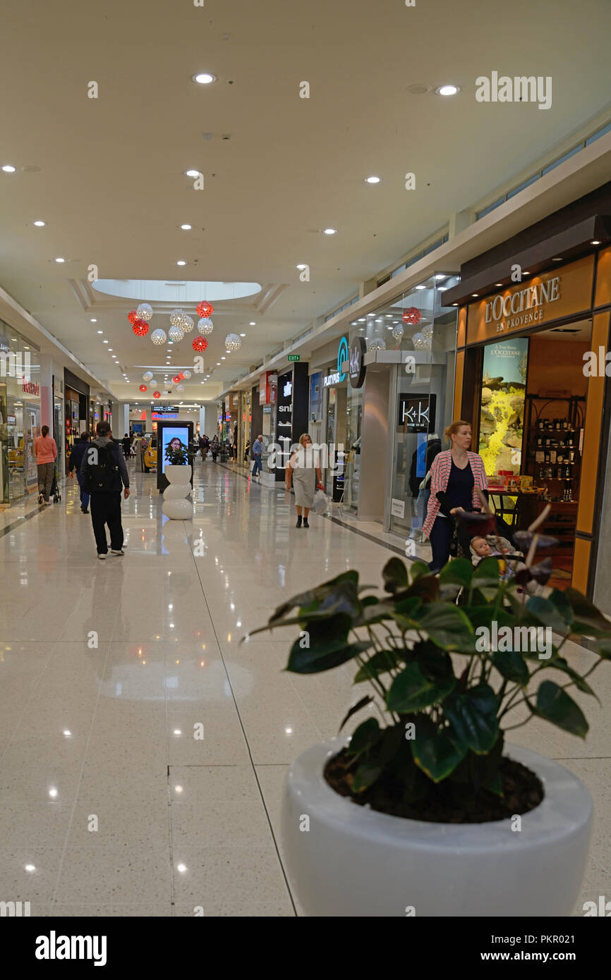
[[[97,438],[87,447],[80,465],[83,489],[91,496],[91,524],[98,558],[108,555],[106,524],[110,531],[111,555],[124,555],[121,523],[121,487],[129,496],[129,476],[126,461],[112,439],[108,422],[100,422]]]

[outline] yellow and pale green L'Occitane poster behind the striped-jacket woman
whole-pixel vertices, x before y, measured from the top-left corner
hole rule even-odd
[[[520,472],[528,356],[528,337],[484,348],[478,452],[488,475]]]

